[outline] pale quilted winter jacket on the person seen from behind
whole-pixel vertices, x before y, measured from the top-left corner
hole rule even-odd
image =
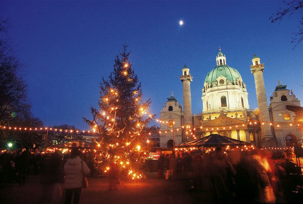
[[[66,189],[80,188],[82,187],[83,173],[81,166],[80,157],[74,159],[68,159],[64,165],[64,186]],[[83,163],[83,171],[85,175],[90,173],[90,169],[87,167],[86,163]]]

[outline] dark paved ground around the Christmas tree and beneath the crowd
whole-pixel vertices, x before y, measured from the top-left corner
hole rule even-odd
[[[29,176],[26,187],[0,184],[1,203],[62,203],[51,198],[58,194],[42,186],[39,176]],[[190,192],[184,181],[159,180],[155,173],[149,173],[139,182],[123,181],[116,191],[108,190],[106,179],[89,178],[89,188],[82,189],[80,203],[204,203],[202,197],[199,192]]]

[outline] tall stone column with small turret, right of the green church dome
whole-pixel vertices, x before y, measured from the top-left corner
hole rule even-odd
[[[261,125],[261,145],[262,147],[273,147],[276,146],[276,142],[270,126],[269,110],[263,79],[264,64],[260,63],[260,58],[257,55],[254,55],[251,61],[252,65],[250,65],[250,70],[254,77],[255,92],[257,93],[259,120],[264,122],[264,125]]]

